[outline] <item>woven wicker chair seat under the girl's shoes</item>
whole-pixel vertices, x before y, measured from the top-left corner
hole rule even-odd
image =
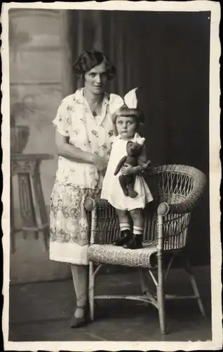
[[[152,268],[152,255],[156,252],[154,242],[143,244],[142,249],[123,249],[113,244],[92,244],[88,248],[88,260],[95,263]]]

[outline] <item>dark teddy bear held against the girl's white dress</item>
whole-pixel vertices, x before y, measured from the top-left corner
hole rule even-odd
[[[142,161],[138,160],[142,152],[142,144],[129,141],[126,144],[126,151],[127,155],[123,156],[123,158],[121,158],[121,160],[119,161],[118,165],[116,166],[116,170],[114,171],[114,175],[117,175],[119,173],[124,163],[133,167],[140,165],[142,167],[142,170],[147,170],[147,168],[149,168],[151,161],[143,163]],[[137,191],[135,191],[134,189],[135,175],[120,175],[119,182],[125,196],[130,196],[130,198],[135,198],[137,196]]]

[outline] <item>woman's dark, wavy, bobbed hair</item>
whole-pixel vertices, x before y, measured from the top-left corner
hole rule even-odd
[[[97,50],[85,51],[81,54],[73,65],[74,72],[78,77],[83,78],[88,71],[95,66],[100,65],[100,63],[105,63],[107,68],[107,78],[108,80],[112,80],[116,75],[116,68],[104,53]]]

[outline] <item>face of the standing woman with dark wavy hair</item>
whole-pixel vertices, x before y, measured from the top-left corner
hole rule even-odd
[[[107,70],[104,63],[95,66],[85,76],[85,87],[93,94],[102,94],[107,83]]]

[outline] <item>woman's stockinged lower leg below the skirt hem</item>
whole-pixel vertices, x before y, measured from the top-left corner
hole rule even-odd
[[[76,293],[76,318],[81,318],[84,310],[78,307],[86,306],[88,301],[88,265],[71,265],[74,290]]]

